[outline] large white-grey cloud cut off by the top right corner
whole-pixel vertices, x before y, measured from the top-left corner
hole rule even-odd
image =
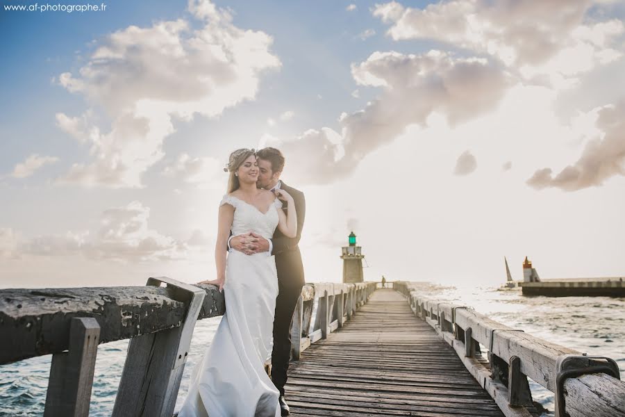
[[[618,20],[586,22],[592,0],[452,0],[424,9],[392,1],[374,16],[394,40],[433,39],[497,57],[526,77],[572,76],[622,56]]]

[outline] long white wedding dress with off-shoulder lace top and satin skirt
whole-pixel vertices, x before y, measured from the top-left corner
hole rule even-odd
[[[231,195],[221,204],[235,208],[233,235],[254,231],[271,238],[280,200],[262,213]],[[220,205],[221,205],[220,204]],[[278,390],[265,373],[272,356],[278,278],[274,256],[233,250],[226,260],[226,313],[213,343],[194,369],[178,417],[280,416]]]

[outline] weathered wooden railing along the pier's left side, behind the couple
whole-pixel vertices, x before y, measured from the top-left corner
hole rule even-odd
[[[342,327],[375,288],[304,286],[292,359]],[[165,277],[147,286],[0,290],[0,365],[52,354],[44,416],[87,416],[97,346],[129,338],[113,416],[171,417],[196,320],[225,311],[215,286]]]

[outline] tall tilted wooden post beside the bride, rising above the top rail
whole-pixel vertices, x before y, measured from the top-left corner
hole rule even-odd
[[[176,300],[185,302],[185,319],[179,327],[131,339],[113,407],[114,417],[171,417],[174,414],[191,336],[206,291],[167,277],[147,281],[149,286],[161,283],[174,288]]]

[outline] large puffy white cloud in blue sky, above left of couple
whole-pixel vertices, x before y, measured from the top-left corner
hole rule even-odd
[[[58,77],[113,120],[103,133],[89,117],[58,113],[60,129],[90,143],[93,156],[58,183],[142,187],[144,172],[164,156],[173,117],[215,117],[253,100],[261,74],[280,67],[266,33],[238,28],[207,0],[190,0],[189,11],[198,29],[185,19],[128,26],[108,35],[78,74]]]

